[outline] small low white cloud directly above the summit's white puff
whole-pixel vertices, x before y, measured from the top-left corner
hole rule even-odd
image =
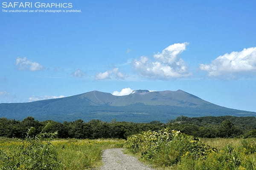
[[[107,70],[106,72],[99,72],[95,75],[96,80],[104,80],[104,79],[125,79],[125,75],[119,71],[118,68],[114,68],[112,70]]]

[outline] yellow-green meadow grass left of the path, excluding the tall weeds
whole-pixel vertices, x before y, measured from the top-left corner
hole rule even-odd
[[[125,140],[60,139],[53,140],[51,143],[64,170],[85,170],[101,166],[102,150],[122,147]],[[5,153],[13,152],[19,145],[19,140],[0,138],[0,150]]]

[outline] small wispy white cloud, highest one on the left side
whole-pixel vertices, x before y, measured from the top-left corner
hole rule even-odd
[[[16,58],[16,65],[20,70],[29,70],[32,72],[44,69],[44,67],[41,64],[29,61],[26,57]]]

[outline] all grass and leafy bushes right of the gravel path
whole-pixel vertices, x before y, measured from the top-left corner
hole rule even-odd
[[[196,138],[169,128],[128,137],[126,153],[157,170],[256,170],[256,141]]]

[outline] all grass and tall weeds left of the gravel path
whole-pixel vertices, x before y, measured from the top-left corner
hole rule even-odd
[[[85,170],[100,165],[102,150],[122,147],[124,140],[53,140],[47,123],[40,133],[29,128],[26,139],[0,140],[0,170]]]

